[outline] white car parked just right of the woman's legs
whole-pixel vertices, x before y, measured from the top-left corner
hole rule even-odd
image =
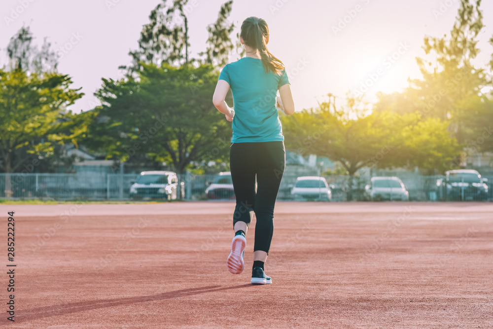
[[[291,190],[294,201],[331,201],[332,192],[323,177],[298,177]]]

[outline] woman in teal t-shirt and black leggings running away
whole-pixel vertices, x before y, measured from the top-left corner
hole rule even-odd
[[[223,68],[212,100],[217,110],[225,114],[228,121],[233,121],[230,167],[236,194],[235,236],[227,265],[233,274],[240,274],[245,268],[245,236],[255,213],[250,282],[269,284],[272,279],[265,274],[264,263],[271,246],[274,205],[286,162],[276,108],[289,115],[294,113],[294,102],[284,65],[267,50],[267,23],[261,18],[248,17],[242,24],[240,40],[246,57]],[[225,102],[230,88],[234,110]],[[278,90],[280,97],[276,97]]]

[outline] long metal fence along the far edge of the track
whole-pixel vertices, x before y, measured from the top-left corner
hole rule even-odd
[[[293,200],[293,188],[300,175],[285,172],[278,193],[278,200]],[[481,191],[479,183],[446,182],[444,176],[422,176],[403,173],[397,176],[404,183],[409,201],[491,201],[493,200],[493,177],[487,177],[488,192]],[[55,199],[55,200],[129,200],[131,186],[137,174],[0,174],[0,198],[2,199]],[[370,177],[325,176],[331,201],[370,200],[367,185]],[[141,195],[139,199],[231,199],[235,198],[231,178],[227,175],[178,175],[168,195],[156,191]],[[150,188],[148,188],[149,190]],[[180,197],[181,195],[181,197]],[[310,199],[307,199],[310,200]],[[392,200],[392,192],[390,192]]]

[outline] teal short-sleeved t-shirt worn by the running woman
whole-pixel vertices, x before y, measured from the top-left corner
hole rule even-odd
[[[228,82],[233,93],[231,143],[284,141],[276,94],[279,87],[289,83],[285,70],[282,75],[266,73],[260,59],[244,57],[227,64],[219,80]]]

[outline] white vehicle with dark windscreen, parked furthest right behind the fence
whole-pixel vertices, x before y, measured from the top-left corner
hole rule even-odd
[[[451,170],[436,182],[439,200],[488,200],[488,179],[476,170]]]

